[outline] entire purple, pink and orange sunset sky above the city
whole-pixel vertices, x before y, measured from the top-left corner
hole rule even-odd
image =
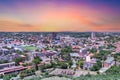
[[[119,32],[120,0],[0,0],[2,32]]]

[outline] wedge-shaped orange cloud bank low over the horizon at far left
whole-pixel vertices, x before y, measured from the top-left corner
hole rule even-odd
[[[0,31],[19,32],[19,31],[36,31],[36,30],[37,28],[35,26],[29,24],[21,24],[11,21],[0,21]]]

